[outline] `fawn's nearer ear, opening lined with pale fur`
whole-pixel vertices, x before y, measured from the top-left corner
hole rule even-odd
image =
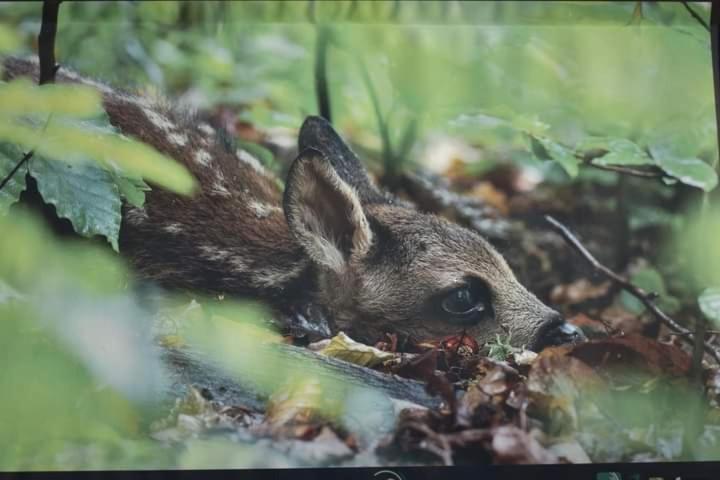
[[[302,151],[290,167],[283,207],[290,233],[320,265],[340,273],[370,248],[372,231],[357,193],[317,150]]]

